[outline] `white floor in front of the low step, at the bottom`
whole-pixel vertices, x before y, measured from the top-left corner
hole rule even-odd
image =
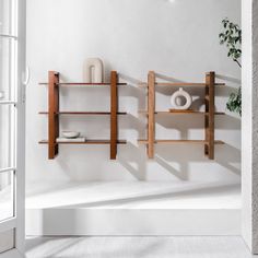
[[[238,236],[28,238],[27,258],[251,258]]]

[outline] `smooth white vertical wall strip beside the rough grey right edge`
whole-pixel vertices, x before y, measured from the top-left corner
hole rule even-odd
[[[253,19],[253,0],[248,0],[243,2],[242,5],[242,24],[243,24],[243,236],[247,242],[248,246],[251,246],[251,117],[253,117],[253,108],[250,99],[253,101],[251,93],[251,84],[253,84],[253,52],[251,52],[251,19]],[[245,133],[245,134],[244,134]]]

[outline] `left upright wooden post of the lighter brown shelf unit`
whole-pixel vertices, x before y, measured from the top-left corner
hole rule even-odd
[[[155,141],[155,72],[148,74],[148,156],[154,157]]]

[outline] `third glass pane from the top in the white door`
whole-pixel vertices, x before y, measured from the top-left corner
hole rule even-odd
[[[14,166],[14,112],[13,105],[0,104],[0,169]]]

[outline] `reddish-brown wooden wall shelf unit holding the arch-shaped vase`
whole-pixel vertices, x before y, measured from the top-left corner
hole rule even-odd
[[[48,86],[48,112],[39,112],[40,115],[48,116],[48,140],[39,141],[40,144],[48,144],[48,159],[52,160],[58,155],[59,144],[109,144],[110,160],[116,160],[117,144],[126,144],[126,140],[118,140],[118,115],[127,115],[127,113],[118,112],[118,89],[119,85],[127,83],[118,82],[116,71],[110,72],[109,83],[83,83],[83,82],[60,82],[59,73],[55,71],[48,72],[48,82],[39,83],[39,85]],[[59,110],[59,89],[60,86],[110,86],[110,112],[61,112]],[[59,119],[60,116],[109,116],[110,117],[110,139],[89,139],[83,142],[66,141],[57,142],[59,137]]]

